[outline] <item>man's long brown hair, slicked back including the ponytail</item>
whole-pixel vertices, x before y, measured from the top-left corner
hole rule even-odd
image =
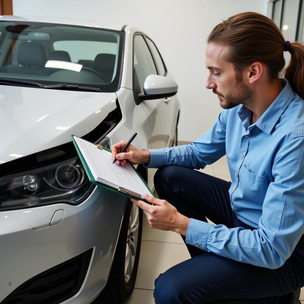
[[[279,77],[285,65],[286,41],[280,29],[271,19],[258,13],[240,13],[224,20],[212,30],[207,41],[229,45],[226,60],[237,72],[259,61],[267,66],[271,81]],[[304,98],[304,45],[292,42],[288,51],[291,59],[282,76]]]

